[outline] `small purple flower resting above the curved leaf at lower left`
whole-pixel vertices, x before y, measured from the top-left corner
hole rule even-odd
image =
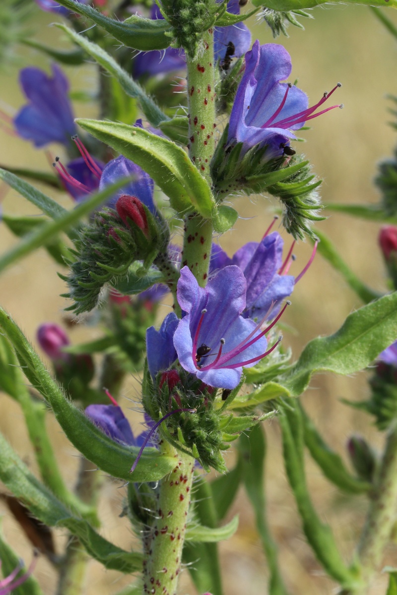
[[[89,405],[86,408],[86,415],[112,440],[124,442],[129,446],[136,446],[131,426],[121,407],[115,405]]]

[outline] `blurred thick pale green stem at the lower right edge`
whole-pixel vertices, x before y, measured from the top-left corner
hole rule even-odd
[[[382,563],[397,512],[397,424],[390,430],[379,475],[371,499],[370,510],[358,545],[362,589],[367,593],[372,578]]]

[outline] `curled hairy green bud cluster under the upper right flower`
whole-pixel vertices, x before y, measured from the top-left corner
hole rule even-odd
[[[211,174],[217,201],[231,193],[246,195],[268,192],[282,203],[283,226],[295,239],[305,234],[314,237],[311,221],[321,221],[317,187],[321,180],[311,174],[308,161],[301,155],[266,159],[267,147],[257,145],[242,157],[243,143],[227,147],[227,127],[211,162]]]

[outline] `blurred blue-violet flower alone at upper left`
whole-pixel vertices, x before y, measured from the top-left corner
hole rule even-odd
[[[17,133],[36,147],[52,142],[70,145],[76,124],[67,95],[68,80],[61,69],[53,64],[50,77],[40,68],[23,68],[20,83],[29,104],[14,118]]]

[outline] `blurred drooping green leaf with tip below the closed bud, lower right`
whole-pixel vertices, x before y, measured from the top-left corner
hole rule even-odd
[[[351,494],[362,494],[368,492],[371,484],[353,477],[346,469],[342,458],[325,443],[315,428],[315,425],[308,418],[301,406],[302,423],[304,427],[305,444],[317,465],[323,471],[327,479],[332,481],[341,490]]]

